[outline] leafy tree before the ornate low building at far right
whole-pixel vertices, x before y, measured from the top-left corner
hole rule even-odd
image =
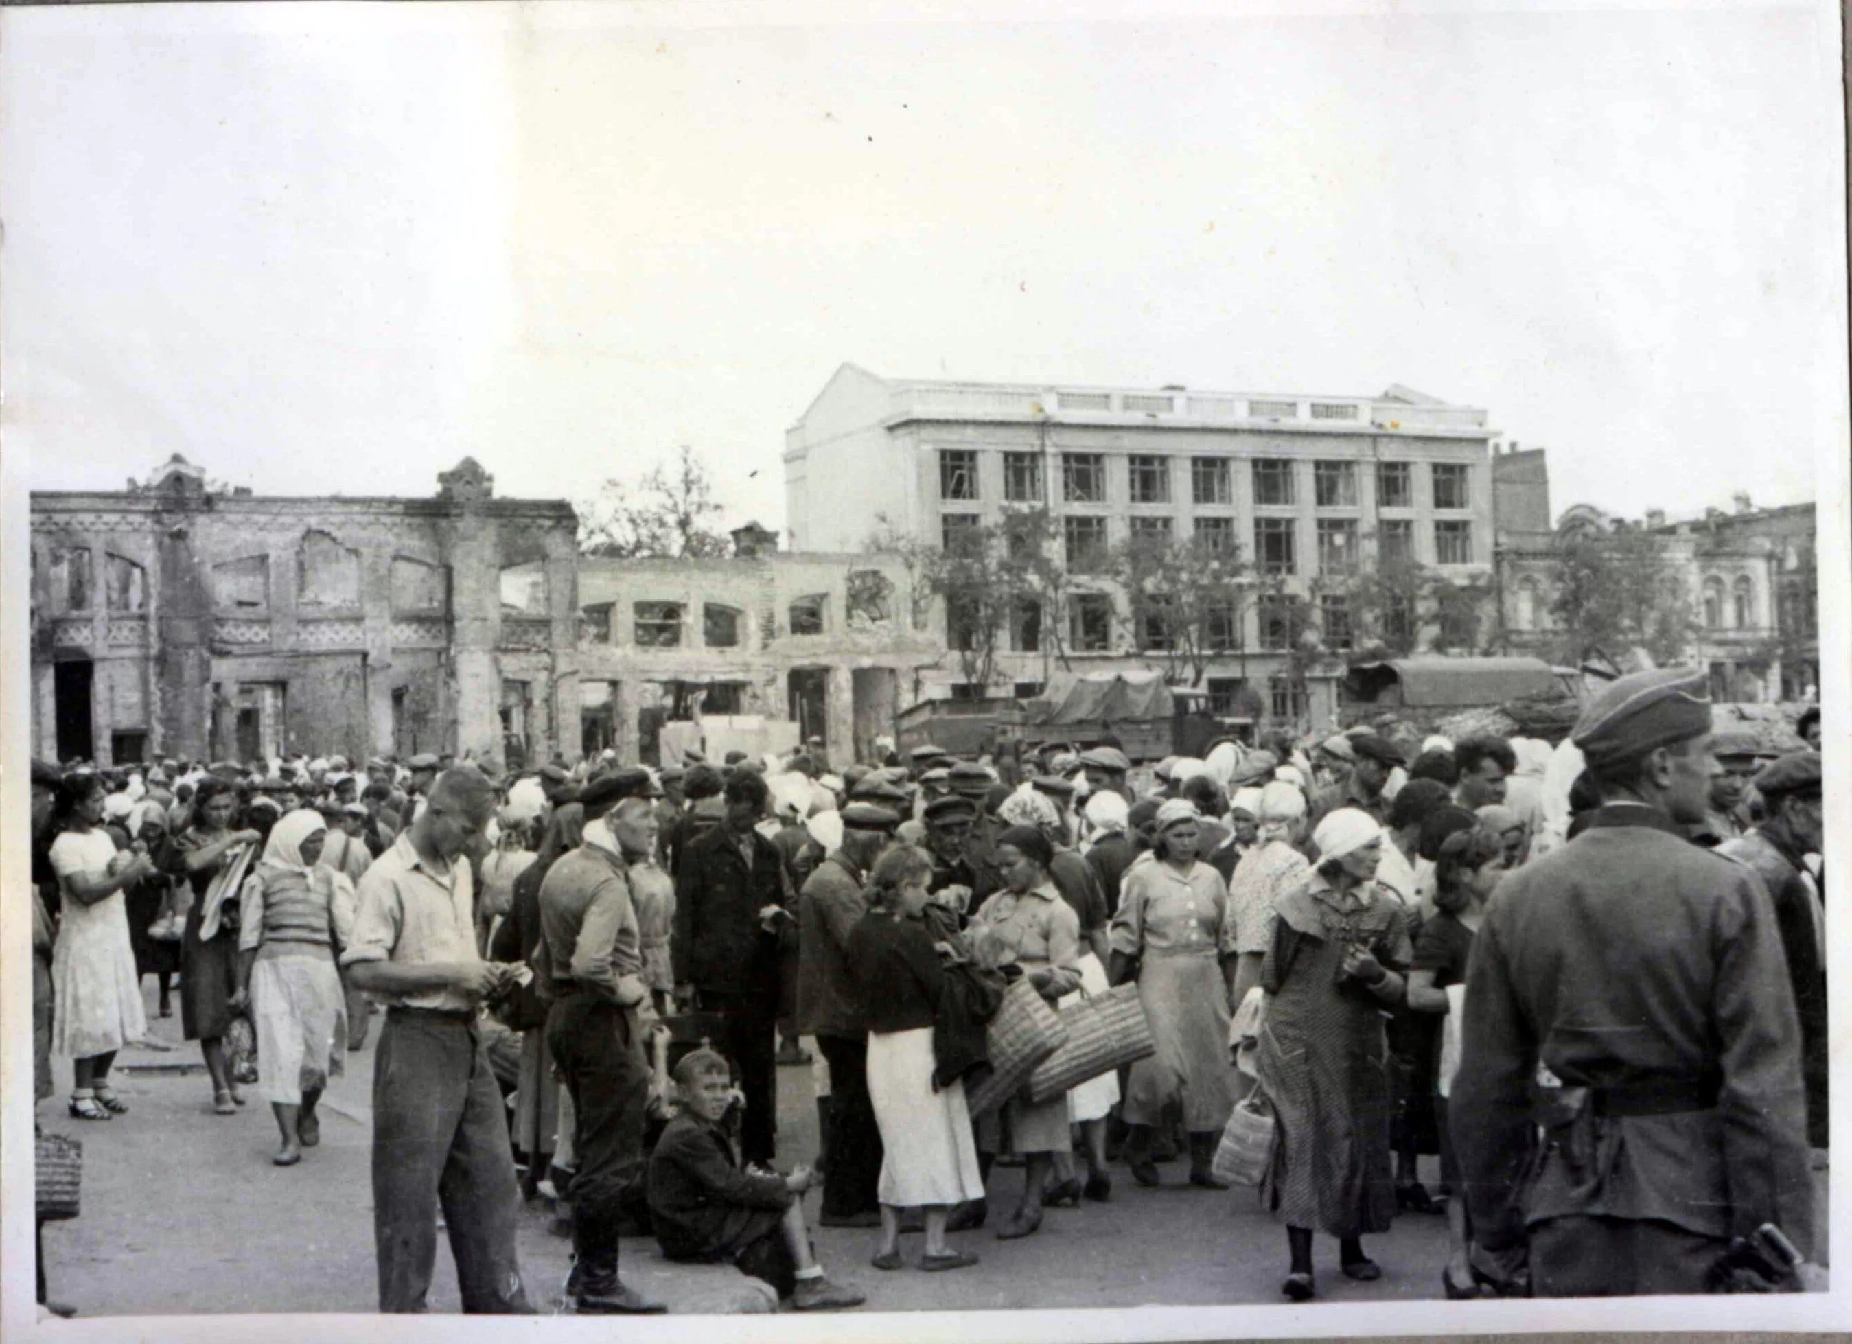
[[[1550,611],[1561,631],[1554,657],[1580,663],[1641,648],[1654,663],[1676,663],[1691,646],[1691,592],[1659,541],[1620,524],[1608,533],[1563,537],[1550,559]]]

